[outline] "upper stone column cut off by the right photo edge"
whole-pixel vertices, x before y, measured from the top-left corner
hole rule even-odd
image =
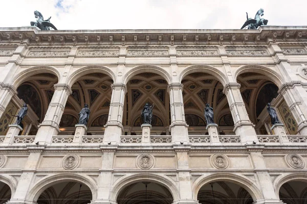
[[[301,135],[307,135],[307,110],[304,108],[306,106],[302,106],[302,102],[299,100],[299,97],[295,97],[296,95],[306,94],[306,91],[303,89],[299,89],[300,91],[295,90],[295,88],[298,88],[297,86],[301,87],[300,82],[296,83],[293,81],[291,83],[284,83],[279,88],[278,93],[282,94],[291,113],[293,114],[298,125],[298,133]]]

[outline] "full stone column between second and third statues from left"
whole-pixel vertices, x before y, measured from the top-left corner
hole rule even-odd
[[[112,97],[109,108],[108,119],[105,126],[103,143],[116,142],[120,143],[120,136],[123,133],[123,110],[126,94],[126,85],[113,84]]]

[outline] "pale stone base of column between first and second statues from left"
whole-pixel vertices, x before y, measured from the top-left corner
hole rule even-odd
[[[56,123],[40,123],[34,142],[39,144],[51,144],[52,137],[60,132],[59,126]]]

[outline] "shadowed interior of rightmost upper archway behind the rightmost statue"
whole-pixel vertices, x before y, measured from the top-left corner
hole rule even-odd
[[[246,72],[237,77],[241,84],[240,92],[245,103],[250,120],[256,125],[259,135],[274,134],[270,127],[271,118],[267,112],[267,104],[276,110],[278,119],[286,127],[288,134],[297,133],[297,123],[282,95],[278,94],[278,87],[266,75]]]

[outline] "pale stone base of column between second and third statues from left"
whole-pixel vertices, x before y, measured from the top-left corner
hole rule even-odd
[[[109,142],[120,143],[120,136],[124,132],[123,125],[121,123],[106,123],[104,125],[104,136],[103,136],[103,144],[107,144]]]

